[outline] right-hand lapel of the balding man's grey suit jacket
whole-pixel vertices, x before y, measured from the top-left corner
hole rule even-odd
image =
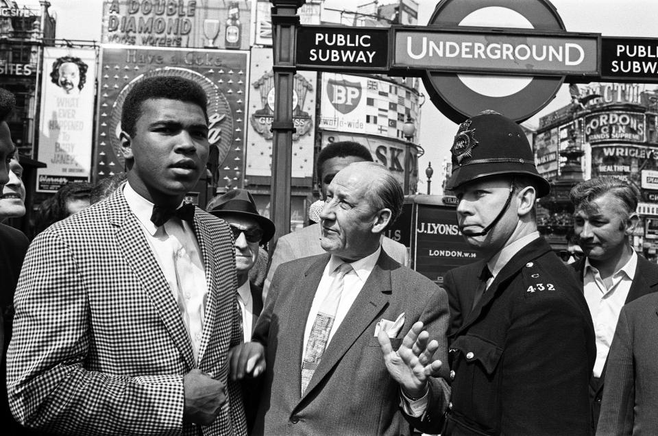
[[[391,295],[391,272],[388,269],[382,268],[382,265],[388,260],[387,258],[387,254],[382,251],[374,269],[368,277],[368,280],[363,285],[361,292],[358,293],[352,307],[350,307],[347,315],[345,315],[345,319],[343,319],[343,322],[341,322],[341,325],[334,333],[334,336],[322,355],[322,360],[320,361],[317,370],[315,370],[315,373],[313,374],[313,378],[310,379],[308,387],[306,387],[306,391],[304,391],[304,396],[302,396],[300,400],[303,400],[308,396],[310,391],[313,391],[318,383],[327,376],[332,367],[343,358],[356,339],[363,335],[363,332],[373,320],[382,313],[382,310],[389,302]],[[308,315],[308,311],[304,313]]]

